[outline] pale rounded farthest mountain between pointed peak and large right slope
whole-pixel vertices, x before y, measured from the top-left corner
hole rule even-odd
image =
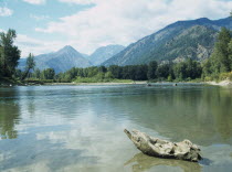
[[[97,49],[92,55],[87,56],[93,65],[99,65],[106,60],[110,58],[115,54],[123,51],[125,46],[123,45],[107,45]]]

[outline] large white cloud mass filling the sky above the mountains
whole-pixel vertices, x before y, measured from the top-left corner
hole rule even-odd
[[[50,22],[35,31],[60,33],[75,40],[74,47],[91,53],[106,44],[127,45],[177,20],[228,17],[232,1],[219,0],[60,0],[95,6]],[[207,4],[207,6],[205,6]]]

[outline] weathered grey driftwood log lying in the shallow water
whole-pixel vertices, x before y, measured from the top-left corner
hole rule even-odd
[[[145,154],[166,158],[179,159],[198,162],[201,160],[200,149],[189,140],[181,142],[170,142],[158,138],[150,137],[138,130],[124,130],[134,144]]]

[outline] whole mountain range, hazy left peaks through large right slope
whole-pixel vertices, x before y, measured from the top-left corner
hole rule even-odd
[[[222,26],[232,30],[232,19],[209,20],[201,18],[178,21],[127,47],[107,45],[86,55],[67,45],[57,52],[35,56],[35,63],[40,69],[54,68],[56,73],[60,73],[72,67],[94,65],[124,66],[147,64],[151,61],[181,62],[188,57],[203,61],[211,55],[217,35]],[[24,66],[25,58],[21,58],[19,68],[23,69]]]

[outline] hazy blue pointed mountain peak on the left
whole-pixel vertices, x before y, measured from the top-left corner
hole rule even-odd
[[[72,46],[64,46],[55,53],[41,54],[34,57],[38,68],[54,68],[56,73],[65,72],[72,67],[88,67],[92,64],[83,57]],[[19,63],[19,68],[25,66],[25,58],[21,58]]]

